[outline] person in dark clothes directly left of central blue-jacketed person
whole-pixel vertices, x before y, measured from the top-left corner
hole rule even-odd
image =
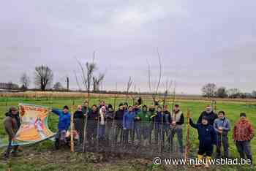
[[[118,141],[118,137],[120,137],[119,140],[122,140],[122,137],[124,135],[123,118],[124,118],[124,104],[120,103],[118,105],[118,110],[115,113],[115,120],[116,120],[115,142]]]

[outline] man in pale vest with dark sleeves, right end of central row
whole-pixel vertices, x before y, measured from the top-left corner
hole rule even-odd
[[[174,138],[174,135],[177,134],[178,145],[180,153],[183,153],[183,140],[182,140],[182,125],[184,124],[184,115],[180,110],[179,105],[175,104],[173,107],[173,111],[171,113],[171,138]],[[173,142],[173,140],[171,141]]]

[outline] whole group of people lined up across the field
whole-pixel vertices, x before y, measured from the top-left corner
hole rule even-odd
[[[171,108],[169,112],[167,105],[160,106],[158,104],[147,107],[142,104],[141,99],[135,102],[134,105],[129,105],[126,102],[121,103],[116,111],[111,104],[107,105],[104,101],[91,107],[89,107],[89,102],[84,102],[83,105],[78,105],[74,113],[75,130],[78,132],[80,142],[85,140],[84,129],[86,129],[86,141],[89,143],[111,138],[114,143],[120,142],[124,145],[129,144],[129,140],[131,140],[132,145],[146,146],[161,142],[161,145],[167,143],[170,148],[173,145],[173,137],[176,135],[178,149],[183,153],[184,114],[178,104],[174,104]],[[56,134],[55,142],[56,148],[59,148],[60,143],[65,141],[71,116],[67,106],[64,106],[62,110],[53,109],[52,113],[59,116],[59,131]],[[85,126],[86,123],[87,126]],[[206,155],[207,160],[211,159],[214,145],[217,147],[217,157],[230,157],[227,136],[231,126],[224,111],[219,111],[216,114],[211,106],[207,106],[198,118],[197,123],[194,123],[190,118],[189,124],[198,132],[198,159],[203,159],[203,155]],[[6,157],[9,157],[12,148],[13,153],[17,152],[18,146],[12,147],[12,140],[15,140],[15,133],[19,126],[18,110],[11,107],[4,119],[4,128],[10,137],[5,153]],[[113,130],[114,132],[111,132]],[[239,120],[233,127],[233,140],[236,143],[240,157],[250,159],[251,162],[250,140],[253,136],[252,123],[246,119],[245,113],[241,113]]]

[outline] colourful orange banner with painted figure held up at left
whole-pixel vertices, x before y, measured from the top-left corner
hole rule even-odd
[[[34,104],[19,104],[20,129],[12,145],[28,145],[53,137],[48,128],[49,107]]]

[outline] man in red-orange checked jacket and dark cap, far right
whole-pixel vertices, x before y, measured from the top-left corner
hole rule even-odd
[[[254,129],[252,123],[246,119],[246,113],[241,113],[239,120],[235,123],[233,128],[233,140],[236,142],[237,151],[241,159],[247,159],[252,164],[252,151],[250,148],[250,141],[254,137]]]

